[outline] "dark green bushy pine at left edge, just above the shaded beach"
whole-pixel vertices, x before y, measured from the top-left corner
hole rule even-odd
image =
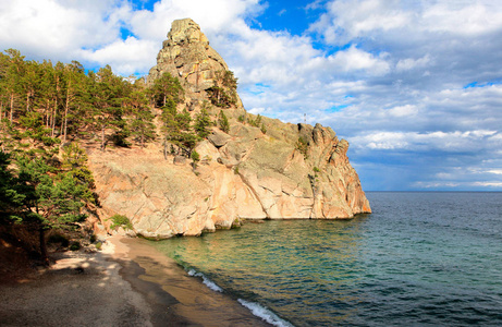
[[[85,219],[83,208],[94,197],[89,185],[76,178],[78,167],[51,166],[45,153],[0,152],[0,223],[21,223],[37,233],[40,254],[47,259],[44,231],[73,228]],[[75,173],[75,175],[74,175]]]

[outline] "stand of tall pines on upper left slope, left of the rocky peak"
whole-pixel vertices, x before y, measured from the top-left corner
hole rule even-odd
[[[177,80],[173,83],[181,94]],[[25,61],[17,50],[9,49],[0,53],[0,137],[14,136],[11,132],[20,128],[22,137],[45,146],[95,133],[100,134],[101,148],[109,140],[127,146],[130,134],[148,142],[154,128],[145,109],[151,94],[140,83],[136,86],[114,75],[109,65],[86,74],[77,61]],[[2,143],[4,149],[12,144]]]

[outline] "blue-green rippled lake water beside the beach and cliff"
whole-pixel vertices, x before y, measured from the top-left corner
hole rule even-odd
[[[367,197],[374,214],[352,220],[248,222],[156,246],[276,325],[502,326],[502,193]]]

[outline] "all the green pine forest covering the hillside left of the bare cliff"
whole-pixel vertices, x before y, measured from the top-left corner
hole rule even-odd
[[[179,110],[184,90],[169,73],[147,85],[109,65],[86,72],[77,61],[0,53],[0,237],[47,262],[48,230],[81,229],[99,205],[83,144],[105,150],[160,140],[164,155],[188,156],[196,165],[194,147],[209,128],[229,129],[222,110],[212,118],[204,107],[235,104],[233,73],[219,72],[216,81],[207,90],[210,102],[193,118],[186,107]]]

